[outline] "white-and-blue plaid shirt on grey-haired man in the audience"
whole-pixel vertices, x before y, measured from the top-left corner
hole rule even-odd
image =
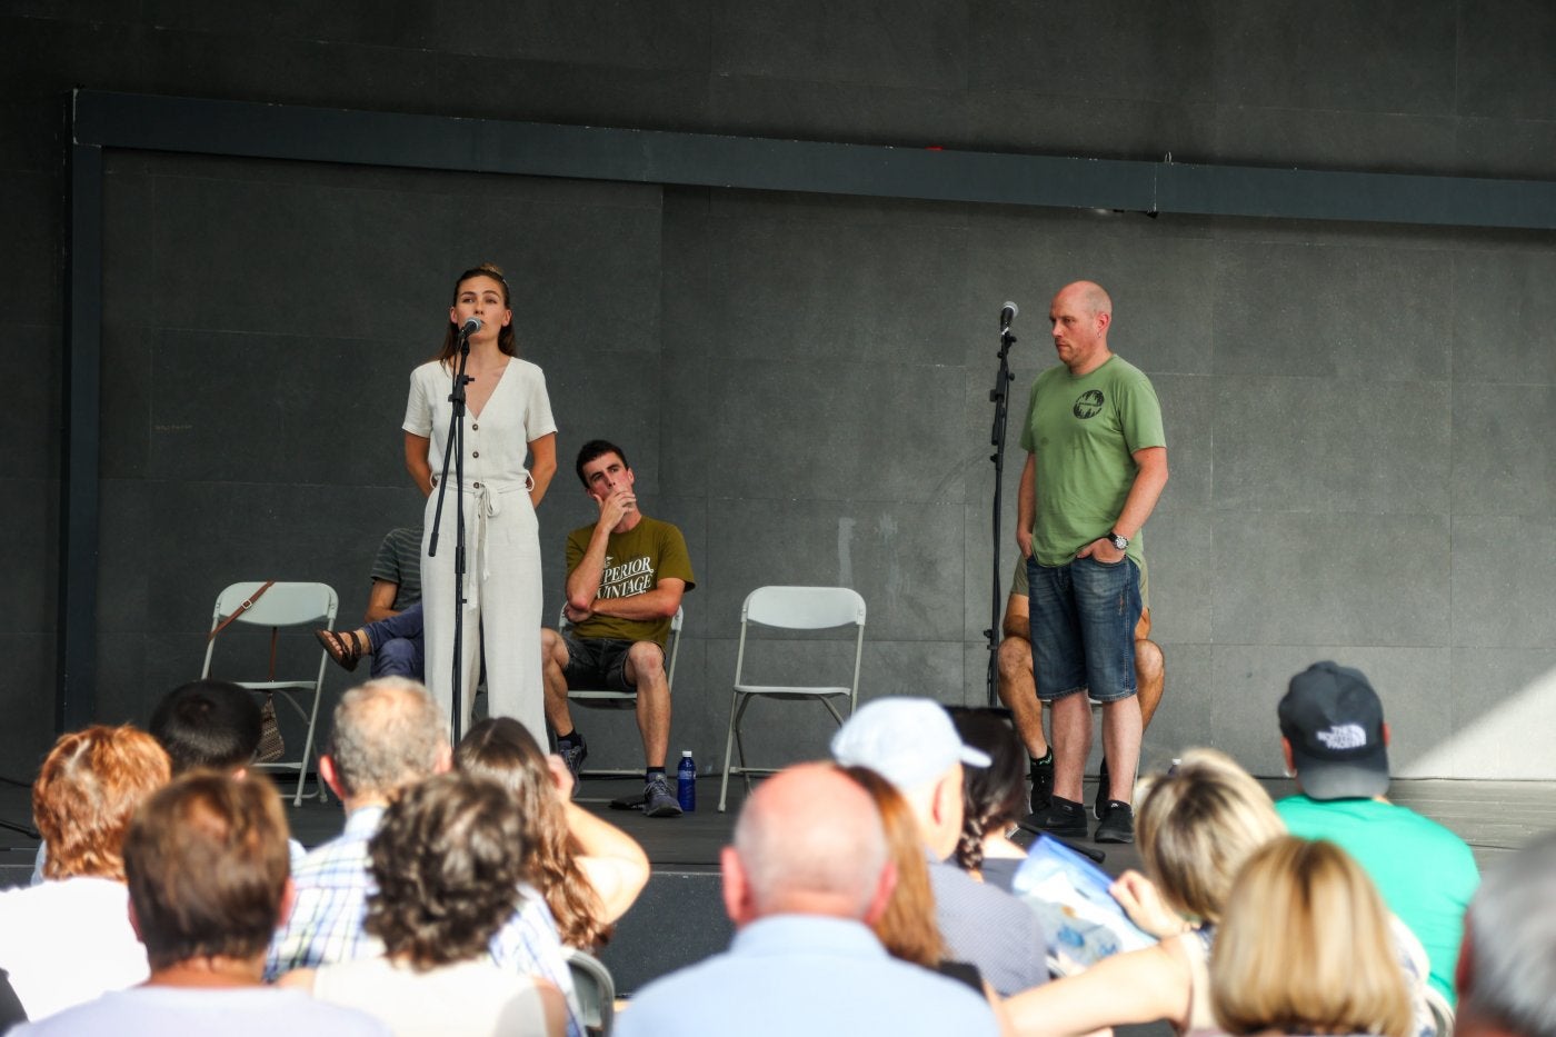
[[[383,807],[363,807],[345,817],[345,830],[319,845],[293,872],[296,902],[286,923],[275,930],[265,956],[265,978],[293,968],[313,968],[384,953],[383,942],[363,928],[367,897],[375,884],[369,872],[367,841],[378,831]],[[557,936],[555,919],[541,895],[523,886],[518,912],[492,937],[492,961],[513,972],[549,979],[568,1000],[568,1037],[582,1037],[577,995]]]

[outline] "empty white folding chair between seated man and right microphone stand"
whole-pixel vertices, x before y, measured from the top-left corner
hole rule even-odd
[[[745,679],[745,635],[752,624],[784,631],[825,631],[853,624],[854,671],[846,685],[766,685],[748,684]],[[734,688],[730,693],[730,730],[724,738],[724,780],[719,785],[719,811],[730,794],[730,775],[745,777],[750,793],[753,774],[773,774],[775,768],[753,768],[745,763],[745,743],[741,736],[741,718],[756,698],[780,701],[817,701],[826,707],[842,727],[843,715],[832,699],[848,698],[848,713],[859,704],[859,660],[865,646],[865,599],[848,587],[758,587],[745,596],[741,606],[741,645],[734,654]],[[739,763],[731,758],[739,755]]]

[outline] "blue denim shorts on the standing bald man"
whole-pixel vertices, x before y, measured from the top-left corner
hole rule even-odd
[[[1089,691],[1099,702],[1134,694],[1134,624],[1141,570],[1077,557],[1064,565],[1027,559],[1032,601],[1032,673],[1044,702]]]

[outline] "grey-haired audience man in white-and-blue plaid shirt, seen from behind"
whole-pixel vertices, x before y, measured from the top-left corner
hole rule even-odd
[[[383,677],[341,696],[319,774],[341,797],[345,830],[314,847],[293,874],[296,900],[271,940],[266,979],[383,954],[383,942],[364,928],[367,897],[377,889],[367,844],[389,803],[412,785],[450,771],[451,760],[448,721],[414,680]],[[499,967],[549,979],[562,990],[569,1003],[568,1032],[582,1034],[557,923],[538,894],[521,898],[489,951]]]

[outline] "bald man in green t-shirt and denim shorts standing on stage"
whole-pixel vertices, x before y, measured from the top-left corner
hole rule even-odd
[[[1060,363],[1032,386],[1016,514],[1032,585],[1038,694],[1053,710],[1053,799],[1039,824],[1060,836],[1086,835],[1080,799],[1092,736],[1089,693],[1102,702],[1109,777],[1095,839],[1133,842],[1141,528],[1167,484],[1167,436],[1150,378],[1108,347],[1113,301],[1100,285],[1061,288],[1049,321]]]

